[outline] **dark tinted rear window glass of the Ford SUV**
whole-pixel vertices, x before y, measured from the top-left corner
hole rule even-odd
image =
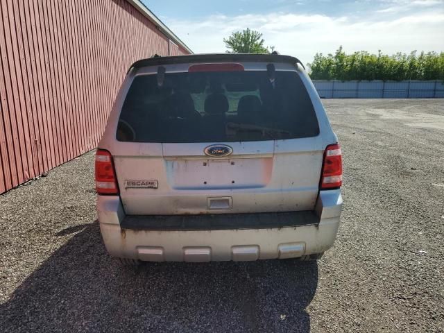
[[[296,71],[165,74],[162,69],[133,80],[117,139],[241,142],[318,133],[313,105]]]

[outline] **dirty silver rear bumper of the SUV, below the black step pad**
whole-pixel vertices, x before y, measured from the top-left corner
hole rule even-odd
[[[283,228],[225,230],[123,229],[125,214],[117,196],[98,196],[97,210],[108,253],[144,261],[207,262],[285,259],[325,252],[339,228],[340,190],[321,191],[318,223]]]

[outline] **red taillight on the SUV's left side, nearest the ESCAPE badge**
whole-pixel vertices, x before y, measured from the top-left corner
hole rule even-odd
[[[97,149],[95,176],[97,194],[119,194],[112,155],[109,151]]]

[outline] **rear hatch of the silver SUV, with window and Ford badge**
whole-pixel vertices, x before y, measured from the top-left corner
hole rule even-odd
[[[111,152],[126,214],[314,209],[325,142],[296,67],[165,65],[129,85]]]

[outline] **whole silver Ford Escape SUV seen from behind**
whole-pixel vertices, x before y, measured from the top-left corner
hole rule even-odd
[[[128,264],[318,259],[339,227],[341,148],[290,56],[135,62],[95,176],[105,247]]]

